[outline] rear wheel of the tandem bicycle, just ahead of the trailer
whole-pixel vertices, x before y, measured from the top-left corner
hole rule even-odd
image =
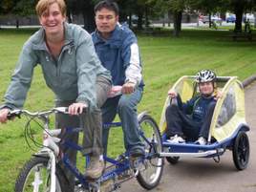
[[[163,170],[163,159],[159,158],[162,151],[160,131],[155,120],[144,115],[139,120],[139,133],[145,145],[146,159],[145,169],[139,170],[137,180],[142,187],[152,189],[159,184]]]

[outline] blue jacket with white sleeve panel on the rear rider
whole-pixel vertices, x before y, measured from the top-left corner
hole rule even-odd
[[[97,31],[92,37],[99,60],[111,72],[114,85],[131,81],[143,86],[138,40],[127,25],[117,24],[107,40]]]

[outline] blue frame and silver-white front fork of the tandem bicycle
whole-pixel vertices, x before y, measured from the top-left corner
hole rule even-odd
[[[120,127],[120,126],[121,126],[121,122],[112,122],[112,123],[103,124],[103,128],[113,128],[113,127]],[[75,133],[75,132],[77,133],[77,132],[80,132],[80,131],[82,131],[82,129],[79,128],[79,127],[77,127],[77,128],[65,128],[65,130],[64,130],[65,134],[72,134],[72,133]],[[53,151],[51,151],[49,148],[45,149],[47,151],[50,151],[50,152],[48,152],[48,154],[50,156],[51,168],[52,168],[52,172],[51,172],[51,184],[52,184],[51,192],[54,192],[54,190],[55,190],[55,168],[56,168],[55,167],[55,162],[56,162],[55,157],[57,157],[58,154],[59,154],[59,147],[56,144],[56,142],[59,142],[59,139],[54,137],[54,136],[57,136],[59,134],[60,134],[60,129],[58,129],[58,130],[49,130],[49,129],[47,129],[44,132],[44,135],[46,135],[46,139],[44,140],[44,145],[53,150]],[[142,135],[143,138],[145,138],[143,136],[142,132],[139,133],[139,134]],[[147,142],[150,143],[149,140],[147,140]],[[72,140],[69,140],[69,139],[66,139],[66,140],[63,139],[62,142],[61,142],[61,145],[65,146],[66,148],[72,148],[76,151],[81,151],[82,150],[82,147],[80,145],[78,145],[77,143],[75,143],[75,142],[73,142]],[[46,152],[45,150],[44,150],[44,153]],[[89,162],[88,157],[85,157],[85,158],[86,158],[86,162],[88,163]],[[63,161],[64,166],[67,167],[75,175],[75,178],[77,178],[78,181],[80,181],[80,183],[84,187],[89,187],[88,181],[86,181],[83,174],[79,172],[77,167],[71,162],[71,160],[68,158],[67,155],[63,154],[61,156],[61,160]],[[104,160],[111,163],[110,166],[116,166],[116,168],[111,170],[111,171],[106,171],[102,175],[102,177],[99,179],[100,182],[115,179],[115,177],[117,177],[118,175],[121,175],[122,173],[124,173],[125,171],[130,169],[130,162],[129,162],[128,159],[124,159],[123,161],[118,161],[118,160],[113,160],[111,158],[108,158],[108,157],[104,156]]]

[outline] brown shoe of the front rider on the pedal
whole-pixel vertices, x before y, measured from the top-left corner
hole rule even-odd
[[[103,160],[99,160],[98,156],[90,157],[90,164],[85,170],[85,177],[91,180],[100,178],[105,168]]]

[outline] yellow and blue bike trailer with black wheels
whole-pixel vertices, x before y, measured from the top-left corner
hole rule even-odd
[[[171,88],[186,101],[199,94],[196,76],[184,75]],[[167,96],[160,117],[160,133],[163,152],[160,157],[175,164],[180,157],[214,158],[219,161],[226,149],[232,150],[233,161],[238,170],[245,169],[249,159],[249,140],[245,121],[245,93],[242,83],[236,76],[217,76],[217,87],[222,96],[217,100],[211,120],[207,144],[194,142],[171,143],[165,135],[165,110],[170,104]]]

